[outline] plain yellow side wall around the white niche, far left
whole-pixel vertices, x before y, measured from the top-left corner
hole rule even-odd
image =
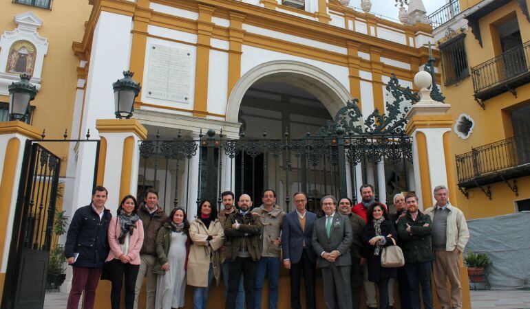
[[[37,30],[47,38],[48,50],[44,57],[42,87],[32,105],[36,106],[32,124],[46,130],[49,139],[61,139],[65,129],[70,133],[77,86],[79,60],[74,56],[72,43],[80,41],[85,33],[92,5],[87,0],[52,1],[52,10],[4,1],[0,10],[0,33],[17,28],[14,16],[31,11],[43,21]],[[0,102],[8,102],[0,95]],[[45,146],[55,155],[67,157],[67,144],[49,143]],[[66,163],[61,164],[61,175]]]

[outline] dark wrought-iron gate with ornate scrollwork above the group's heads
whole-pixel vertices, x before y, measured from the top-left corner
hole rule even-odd
[[[346,102],[333,121],[316,133],[308,130],[301,137],[292,137],[286,129],[281,139],[269,139],[264,129],[260,138],[248,138],[242,131],[239,139],[227,139],[222,130],[216,134],[210,129],[199,139],[182,137],[179,132],[171,140],[157,136],[142,141],[138,196],[141,199],[141,192],[155,187],[165,208],[180,203],[187,207],[203,198],[217,201],[220,208],[224,190],[231,189],[236,196],[248,193],[254,205],[260,205],[262,190],[271,188],[285,210],[292,209],[295,192],[306,192],[308,207],[315,210],[326,194],[350,195],[357,203],[358,183],[367,181],[374,181],[376,194],[380,182],[395,189],[387,194],[409,191],[412,139],[405,135],[405,115],[418,95],[399,87],[395,76],[387,90],[393,100],[386,104],[385,114],[376,108],[364,119],[355,99]],[[383,162],[380,179],[375,170]],[[160,168],[165,176],[159,176]],[[193,168],[198,168],[196,183]],[[191,190],[197,192],[195,201],[189,198]]]

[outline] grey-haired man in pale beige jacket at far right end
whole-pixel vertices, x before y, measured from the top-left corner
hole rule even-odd
[[[460,284],[460,254],[469,240],[469,231],[462,211],[449,204],[449,190],[445,185],[434,188],[436,205],[425,209],[432,219],[432,273],[438,302],[443,309],[462,308]],[[447,278],[451,293],[447,288]]]

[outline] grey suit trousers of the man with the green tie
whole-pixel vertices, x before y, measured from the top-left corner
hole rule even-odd
[[[352,308],[352,297],[346,297],[352,293],[350,268],[351,266],[335,266],[335,264],[321,268],[326,308]]]

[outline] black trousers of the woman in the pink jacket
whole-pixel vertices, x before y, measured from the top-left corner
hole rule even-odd
[[[125,309],[134,307],[134,286],[136,277],[140,270],[140,265],[124,264],[118,259],[109,263],[108,271],[112,290],[110,292],[110,304],[112,309],[120,309],[121,287],[123,286],[123,277],[125,275]]]

